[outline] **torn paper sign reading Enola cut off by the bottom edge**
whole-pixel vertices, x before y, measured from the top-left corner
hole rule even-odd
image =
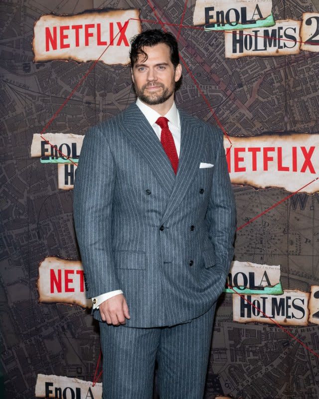
[[[35,397],[45,399],[102,399],[102,383],[96,383],[93,387],[91,381],[38,374],[35,385]]]

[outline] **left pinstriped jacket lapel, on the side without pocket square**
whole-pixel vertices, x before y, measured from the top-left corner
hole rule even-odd
[[[128,138],[148,162],[161,187],[170,194],[175,175],[152,126],[135,103],[124,112],[123,121]]]

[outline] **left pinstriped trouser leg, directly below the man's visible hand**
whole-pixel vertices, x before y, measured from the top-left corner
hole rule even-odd
[[[160,328],[100,323],[103,399],[152,399]]]

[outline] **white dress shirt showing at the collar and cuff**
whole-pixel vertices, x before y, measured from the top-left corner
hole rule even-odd
[[[152,126],[154,129],[157,137],[160,140],[160,132],[161,128],[160,126],[156,123],[158,118],[160,118],[160,115],[158,112],[156,112],[153,108],[149,107],[145,103],[143,103],[139,98],[136,101],[136,105],[140,108],[142,111],[143,115],[146,117],[148,120],[149,124]],[[168,128],[171,131],[171,134],[174,139],[175,147],[176,147],[176,152],[177,156],[179,158],[179,153],[180,153],[180,119],[179,119],[179,113],[177,111],[175,102],[173,102],[173,105],[167,112],[167,114],[164,115],[165,118],[168,119]],[[92,298],[93,301],[93,309],[98,309],[99,305],[106,301],[107,299],[112,298],[115,295],[123,294],[122,290],[115,290],[115,291],[110,291],[102,295],[98,295],[95,298]]]

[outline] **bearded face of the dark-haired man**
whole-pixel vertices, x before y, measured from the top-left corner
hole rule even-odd
[[[145,46],[143,54],[132,68],[132,79],[136,95],[148,105],[162,104],[174,95],[175,82],[181,76],[181,66],[174,68],[170,60],[170,49],[167,44]]]

